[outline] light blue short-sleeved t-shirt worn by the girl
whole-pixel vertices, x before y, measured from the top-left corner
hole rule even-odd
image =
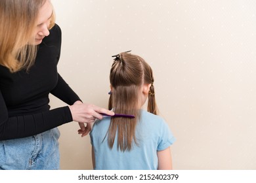
[[[109,125],[110,117],[104,117],[95,122],[90,133],[95,152],[95,169],[156,170],[158,169],[157,151],[165,150],[175,141],[171,130],[160,116],[141,110],[140,121],[136,127],[139,146],[133,143],[130,151],[121,152],[117,150],[116,140],[112,149],[108,146],[106,133]]]

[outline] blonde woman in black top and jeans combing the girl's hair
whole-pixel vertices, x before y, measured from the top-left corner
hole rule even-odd
[[[49,0],[0,1],[0,169],[59,169],[58,126],[87,135],[99,112],[58,74],[61,30]],[[49,93],[70,106],[50,110]],[[87,123],[87,126],[83,123]]]

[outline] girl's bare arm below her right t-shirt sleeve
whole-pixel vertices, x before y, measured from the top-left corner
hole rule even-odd
[[[171,170],[173,169],[171,160],[171,148],[158,151],[158,170]]]

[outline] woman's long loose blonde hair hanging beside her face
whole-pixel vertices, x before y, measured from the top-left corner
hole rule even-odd
[[[0,1],[0,64],[14,73],[35,61],[37,46],[29,44],[39,9],[49,0]],[[54,12],[51,25],[54,25]]]

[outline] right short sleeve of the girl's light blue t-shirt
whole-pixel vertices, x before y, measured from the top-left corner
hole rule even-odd
[[[161,136],[158,143],[158,151],[165,150],[166,148],[171,146],[173,142],[176,141],[175,137],[173,136],[173,133],[171,132],[171,129],[169,129],[169,126],[167,125],[166,122],[162,121],[160,128]]]

